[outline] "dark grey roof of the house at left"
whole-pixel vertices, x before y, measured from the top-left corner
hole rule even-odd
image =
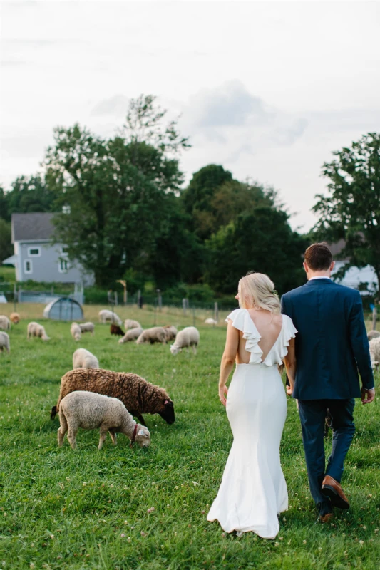
[[[53,224],[51,212],[31,212],[29,214],[12,214],[12,244],[14,242],[51,239]]]

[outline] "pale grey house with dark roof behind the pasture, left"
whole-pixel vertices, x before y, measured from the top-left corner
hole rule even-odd
[[[93,284],[92,274],[86,273],[81,264],[68,260],[67,247],[53,244],[51,219],[54,215],[48,212],[12,214],[14,255],[4,259],[3,264],[14,265],[16,281]]]

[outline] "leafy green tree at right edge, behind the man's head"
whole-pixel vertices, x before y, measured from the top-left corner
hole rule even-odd
[[[368,133],[333,154],[337,158],[322,167],[330,182],[327,195],[316,196],[314,234],[329,242],[344,239],[344,270],[371,265],[380,286],[380,134]]]

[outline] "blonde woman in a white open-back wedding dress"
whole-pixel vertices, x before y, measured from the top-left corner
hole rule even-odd
[[[242,277],[236,299],[240,309],[226,319],[219,380],[219,397],[227,408],[234,441],[207,520],[218,520],[225,532],[235,530],[238,536],[252,531],[274,539],[279,532],[277,514],[288,507],[279,461],[287,399],[278,365],[284,359],[292,386],[297,331],[292,319],[280,314],[277,291],[267,275]]]

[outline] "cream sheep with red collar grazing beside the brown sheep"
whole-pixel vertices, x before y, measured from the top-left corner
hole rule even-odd
[[[63,445],[63,437],[67,432],[67,439],[71,448],[76,448],[76,434],[78,428],[95,430],[100,427],[98,450],[101,450],[106,440],[107,432],[111,435],[113,445],[116,445],[116,432],[124,433],[140,447],[149,447],[150,433],[146,427],[138,424],[117,398],[108,398],[92,392],[71,392],[63,398],[59,408],[58,447]]]

